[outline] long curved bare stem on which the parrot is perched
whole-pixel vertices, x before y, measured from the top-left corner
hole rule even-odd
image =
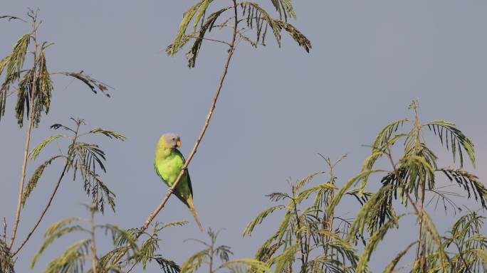
[[[186,172],[186,170],[187,170],[187,168],[189,166],[189,163],[193,159],[194,154],[197,153],[197,149],[198,149],[199,144],[201,143],[201,139],[203,139],[204,133],[206,132],[206,129],[208,128],[209,122],[211,120],[211,116],[213,115],[213,112],[214,112],[214,109],[215,109],[216,101],[218,100],[218,97],[220,95],[221,87],[223,87],[223,84],[224,84],[224,80],[225,80],[225,77],[226,77],[226,73],[229,70],[229,64],[230,64],[231,57],[234,55],[234,50],[235,50],[235,41],[236,41],[236,33],[237,33],[237,25],[238,25],[238,21],[237,20],[238,20],[238,18],[237,18],[237,4],[236,4],[236,0],[232,0],[232,1],[234,2],[234,14],[235,14],[234,32],[232,34],[232,38],[231,38],[231,43],[230,43],[230,48],[229,48],[229,51],[228,51],[228,55],[226,56],[226,61],[225,61],[224,69],[223,69],[223,71],[221,73],[220,80],[219,80],[218,85],[216,87],[216,93],[215,93],[215,95],[213,97],[213,102],[211,102],[211,107],[209,109],[208,114],[206,115],[206,120],[204,122],[203,128],[201,129],[201,132],[199,132],[199,135],[197,137],[197,140],[194,143],[193,149],[189,153],[189,156],[187,157],[186,162],[184,163],[184,166],[181,168],[181,171],[179,172],[179,175],[177,176],[176,181],[174,181],[174,184],[172,184],[172,187],[167,190],[167,193],[164,196],[164,198],[162,198],[161,203],[159,203],[159,205],[157,205],[157,208],[155,208],[155,210],[149,215],[149,217],[147,218],[147,220],[145,220],[144,225],[142,225],[142,227],[140,228],[140,232],[138,232],[137,233],[137,236],[135,237],[136,239],[138,237],[140,237],[140,235],[142,235],[142,233],[145,230],[147,230],[147,228],[149,228],[149,225],[150,225],[150,223],[152,223],[152,220],[154,220],[154,218],[157,216],[157,214],[159,213],[159,211],[161,211],[162,208],[164,208],[164,205],[167,203],[167,200],[169,200],[169,196],[171,196],[172,193],[174,193],[174,189],[177,187],[177,184],[179,183],[179,181],[181,180],[182,176]],[[127,250],[128,250],[128,248],[125,251],[123,251],[122,253],[120,253],[120,255],[118,255],[118,257],[114,259],[113,263],[118,262],[123,257],[123,255],[125,255],[125,253],[127,252]]]

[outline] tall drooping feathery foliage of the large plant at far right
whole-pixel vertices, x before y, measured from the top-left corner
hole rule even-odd
[[[394,272],[394,268],[397,267],[400,259],[407,254],[412,245],[417,245],[417,259],[412,264],[412,272],[457,272],[451,271],[453,267],[456,267],[455,260],[451,258],[451,253],[447,249],[447,245],[450,245],[451,242],[446,242],[444,237],[439,235],[433,220],[426,212],[426,194],[433,194],[433,198],[436,196],[437,200],[440,198],[445,200],[446,194],[456,195],[456,193],[445,193],[439,189],[437,186],[438,173],[443,173],[448,181],[456,183],[466,191],[468,198],[474,196],[481,206],[486,208],[486,187],[478,181],[477,176],[462,169],[464,166],[463,152],[468,154],[471,164],[475,166],[471,140],[452,122],[434,120],[421,124],[418,114],[419,102],[413,101],[410,109],[414,111],[414,119],[397,119],[381,129],[372,144],[370,156],[362,164],[362,171],[346,183],[340,189],[340,194],[335,196],[335,200],[332,201],[331,208],[333,208],[333,204],[340,201],[343,193],[350,191],[353,186],[359,186],[357,188],[358,198],[364,196],[368,181],[371,177],[375,178],[372,173],[378,172],[375,169],[377,162],[383,159],[385,163],[391,165],[391,169],[385,171],[382,178],[379,178],[381,183],[379,190],[367,196],[367,200],[358,210],[348,229],[348,241],[355,239],[357,235],[367,236],[365,230],[370,235],[365,250],[357,263],[356,272],[366,270],[372,252],[383,240],[387,230],[399,228],[399,218],[404,215],[396,215],[395,200],[399,200],[399,204],[404,205],[405,208],[413,208],[411,213],[405,215],[416,215],[419,225],[418,240],[411,242],[402,252],[399,252],[389,262],[384,272]],[[407,129],[405,125],[411,125],[411,127]],[[439,137],[441,143],[451,152],[454,163],[455,159],[459,158],[459,168],[441,168],[438,166],[438,157],[426,144],[428,129]],[[394,161],[392,151],[396,151],[401,143],[404,153],[397,161]],[[448,199],[447,202],[455,207],[453,201]],[[446,205],[444,208],[447,209]]]

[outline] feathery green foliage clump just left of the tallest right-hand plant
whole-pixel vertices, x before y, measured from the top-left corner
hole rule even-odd
[[[323,159],[329,171],[311,173],[296,183],[290,183],[290,193],[268,195],[271,201],[285,204],[263,210],[244,229],[244,236],[250,236],[268,215],[282,211],[281,224],[255,256],[268,267],[273,267],[275,272],[293,272],[297,268],[300,272],[355,272],[359,258],[355,247],[345,240],[351,221],[336,217],[334,208],[330,209],[330,206],[335,194],[358,198],[357,191],[335,193],[337,178],[333,169],[342,159],[335,162]],[[313,178],[323,173],[330,175],[327,182],[309,186]],[[369,193],[358,200],[364,202],[368,196]],[[356,239],[363,237],[357,236]]]

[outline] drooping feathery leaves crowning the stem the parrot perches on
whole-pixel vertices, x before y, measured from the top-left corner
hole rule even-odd
[[[290,0],[271,0],[271,4],[278,13],[278,18],[273,18],[265,9],[252,1],[234,1],[233,6],[216,7],[213,11],[214,5],[212,4],[214,4],[212,0],[200,0],[189,7],[183,14],[174,41],[166,48],[169,55],[174,55],[186,43],[194,40],[186,54],[190,68],[194,68],[196,65],[199,50],[204,41],[230,45],[232,50],[240,41],[257,47],[266,45],[268,29],[273,33],[279,47],[281,47],[281,32],[285,31],[307,52],[311,49],[311,42],[308,38],[298,28],[288,23],[288,18],[296,17],[293,3]],[[189,26],[192,26],[192,30],[188,30]],[[209,38],[208,35],[214,28],[218,30],[234,29],[238,40],[236,43],[232,43]],[[256,34],[255,38],[250,38],[248,31],[253,31]]]

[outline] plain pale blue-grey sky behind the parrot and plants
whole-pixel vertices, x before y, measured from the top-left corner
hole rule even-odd
[[[0,14],[21,16],[27,6],[41,10],[44,23],[39,38],[56,43],[48,50],[51,71],[85,70],[115,87],[108,99],[93,95],[78,82],[56,78],[51,113],[33,132],[37,143],[54,133],[49,125],[81,117],[87,120],[87,128],[107,127],[128,137],[124,143],[99,139],[108,154],[104,180],[117,193],[117,213],[98,217],[100,223],[123,228],[141,225],[166,192],[152,166],[159,135],[179,133],[182,152],[187,154],[204,122],[225,48],[204,43],[197,68],[191,70],[184,54],[169,58],[163,52],[192,2],[5,0],[0,4]],[[228,1],[214,4],[219,2]],[[268,1],[258,2],[266,6]],[[361,145],[370,144],[384,124],[408,115],[407,105],[416,98],[421,119],[452,120],[473,139],[475,172],[481,179],[487,177],[483,168],[487,163],[486,1],[295,2],[298,20],[292,23],[313,43],[310,54],[288,37],[280,50],[270,36],[268,46],[257,50],[242,43],[214,119],[189,167],[201,223],[206,228],[226,228],[220,242],[230,245],[235,257],[253,256],[278,225],[278,217],[271,217],[253,237],[241,237],[246,223],[270,205],[265,194],[284,190],[288,178],[294,181],[324,169],[318,152],[332,158],[349,153],[337,171],[339,183],[350,178],[369,152]],[[26,31],[21,23],[0,21],[0,55],[9,53]],[[24,132],[16,126],[14,99],[7,103],[0,123],[0,216],[11,227]],[[53,151],[46,150],[44,157]],[[29,176],[40,162],[29,162]],[[19,239],[46,203],[60,168],[59,164],[50,167],[28,200]],[[19,272],[27,272],[48,224],[87,215],[78,205],[86,202],[80,182],[63,181],[53,208],[22,250]],[[340,210],[354,208],[345,205]],[[453,219],[441,210],[433,214],[441,231]],[[189,225],[161,235],[162,254],[177,262],[197,250],[184,239],[206,238],[177,199],[169,200],[157,216],[163,222],[182,219]],[[392,250],[404,247],[407,238],[414,236],[414,228],[404,227],[399,235],[388,236],[372,256],[375,271],[382,270]],[[34,272],[40,272],[74,239],[53,245]],[[107,247],[102,244],[102,249]]]

